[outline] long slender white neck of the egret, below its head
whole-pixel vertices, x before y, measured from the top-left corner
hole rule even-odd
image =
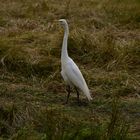
[[[64,37],[63,37],[63,43],[62,43],[61,61],[68,58],[68,50],[67,50],[68,34],[69,34],[69,28],[68,28],[68,25],[66,25],[64,27]]]

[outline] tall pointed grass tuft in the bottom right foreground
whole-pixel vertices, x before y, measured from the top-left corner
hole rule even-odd
[[[107,139],[127,139],[129,125],[127,118],[121,115],[121,111],[118,107],[119,100],[114,98],[112,101],[112,112],[110,122],[107,126]]]

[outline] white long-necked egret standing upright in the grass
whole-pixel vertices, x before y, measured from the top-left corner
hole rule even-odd
[[[62,51],[61,51],[61,75],[66,82],[66,91],[68,93],[66,103],[68,103],[68,99],[71,92],[71,87],[74,87],[77,93],[77,99],[79,102],[79,90],[82,91],[88,100],[92,100],[90,96],[90,92],[88,86],[85,82],[85,79],[80,72],[78,66],[74,63],[74,61],[68,56],[67,51],[67,41],[69,34],[69,27],[67,21],[65,19],[59,20],[60,25],[64,28],[64,37],[62,43]]]

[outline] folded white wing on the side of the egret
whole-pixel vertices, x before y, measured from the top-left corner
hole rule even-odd
[[[72,59],[65,66],[65,74],[68,80],[76,87],[82,89],[85,86],[85,79]]]

